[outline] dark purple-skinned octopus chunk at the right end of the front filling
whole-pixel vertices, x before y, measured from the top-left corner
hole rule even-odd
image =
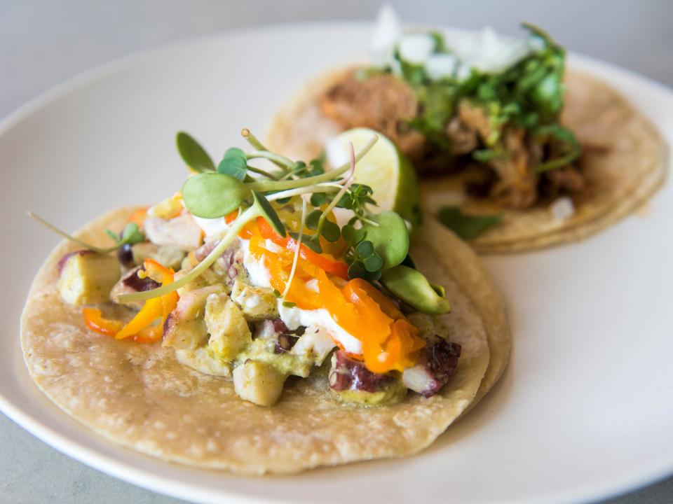
[[[420,353],[419,362],[405,369],[402,381],[412,391],[429,398],[439,392],[454,374],[461,346],[435,335],[427,339]]]

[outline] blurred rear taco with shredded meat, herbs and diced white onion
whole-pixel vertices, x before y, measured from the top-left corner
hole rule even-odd
[[[301,87],[271,123],[271,148],[311,157],[345,130],[379,131],[421,176],[426,214],[483,253],[592,235],[665,180],[655,127],[609,85],[566,72],[540,29],[515,40],[381,19],[372,61]]]

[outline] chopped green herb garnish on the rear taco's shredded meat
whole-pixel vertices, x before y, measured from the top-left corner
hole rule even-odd
[[[486,116],[490,134],[483,148],[472,153],[477,162],[506,159],[509,153],[503,145],[503,130],[520,127],[535,137],[547,135],[552,145],[551,158],[535,167],[545,172],[568,165],[580,155],[580,146],[574,135],[559,125],[559,114],[564,105],[565,50],[545,31],[524,23],[531,40],[538,47],[510,68],[497,73],[470,69],[467,76],[452,76],[440,80],[430,78],[423,65],[410,64],[395,52],[401,77],[407,82],[419,101],[419,113],[409,121],[431,143],[451,152],[446,128],[456,116],[458,104],[466,100],[480,108]],[[435,54],[450,54],[442,34],[430,32],[435,39]],[[385,71],[392,72],[388,67]],[[362,73],[367,78],[370,73]],[[544,132],[544,133],[541,133]]]

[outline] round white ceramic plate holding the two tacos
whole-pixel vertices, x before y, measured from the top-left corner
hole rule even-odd
[[[0,125],[2,410],[57,449],[129,482],[193,501],[461,503],[587,500],[673,472],[673,189],[599,236],[487,259],[510,304],[505,377],[430,449],[403,460],[254,479],[191,470],[90,433],[33,385],[18,319],[57,238],[31,209],[77,228],[153,202],[184,177],[173,136],[212,153],[263,134],[304,78],[362,56],[368,25],[276,27],[200,38],[123,59],[36,99]],[[582,57],[571,64],[629,96],[673,139],[669,90]]]

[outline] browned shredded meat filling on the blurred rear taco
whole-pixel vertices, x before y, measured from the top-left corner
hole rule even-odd
[[[409,120],[419,113],[419,102],[409,85],[388,74],[360,79],[355,71],[348,73],[322,96],[320,109],[344,129],[370,127],[382,132],[409,157],[421,176],[447,174],[473,164],[470,154],[486,148],[494,133],[484,109],[463,99],[456,116],[444,127],[450,146],[447,152],[409,127]],[[482,162],[483,176],[468,180],[468,193],[511,209],[529,208],[541,197],[585,193],[587,183],[576,166],[543,174],[534,171],[554,155],[549,139],[527,136],[516,127],[496,133],[506,156]]]

